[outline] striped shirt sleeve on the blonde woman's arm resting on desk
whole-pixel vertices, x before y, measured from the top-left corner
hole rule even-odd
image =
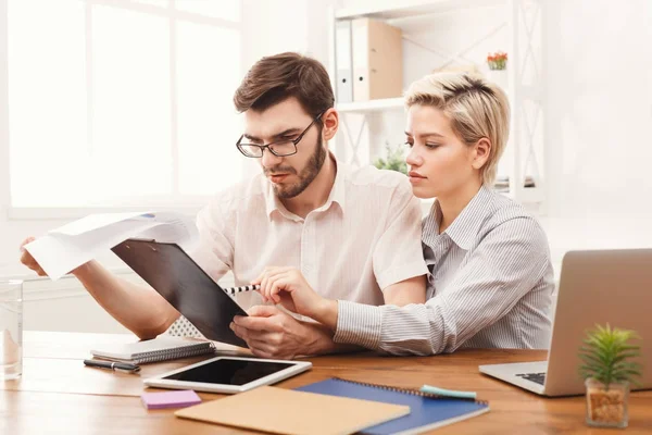
[[[447,291],[425,304],[369,307],[339,301],[334,340],[393,355],[452,352],[530,291],[546,273],[548,258],[541,227],[529,217],[512,219],[490,231]]]

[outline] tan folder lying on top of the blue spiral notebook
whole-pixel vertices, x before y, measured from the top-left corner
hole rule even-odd
[[[353,434],[410,413],[410,407],[259,387],[176,411],[184,419],[275,434]]]

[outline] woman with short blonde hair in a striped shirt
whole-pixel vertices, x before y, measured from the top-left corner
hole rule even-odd
[[[491,187],[510,129],[506,96],[480,77],[435,74],[414,83],[405,103],[413,192],[437,198],[423,222],[425,303],[325,299],[288,268],[267,268],[254,282],[263,299],[316,320],[336,343],[394,355],[547,347],[553,272],[546,235]],[[246,334],[248,322],[236,318],[231,327]]]

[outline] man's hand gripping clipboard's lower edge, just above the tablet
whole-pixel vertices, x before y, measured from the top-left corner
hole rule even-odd
[[[236,315],[230,328],[256,357],[293,359],[334,350],[333,337],[318,325],[300,322],[276,307],[256,306]]]

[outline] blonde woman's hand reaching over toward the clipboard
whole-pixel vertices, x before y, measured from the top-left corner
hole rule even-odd
[[[259,291],[265,302],[280,303],[325,324],[330,324],[335,315],[337,323],[337,301],[323,298],[313,290],[297,269],[268,266],[251,284],[261,286]]]

